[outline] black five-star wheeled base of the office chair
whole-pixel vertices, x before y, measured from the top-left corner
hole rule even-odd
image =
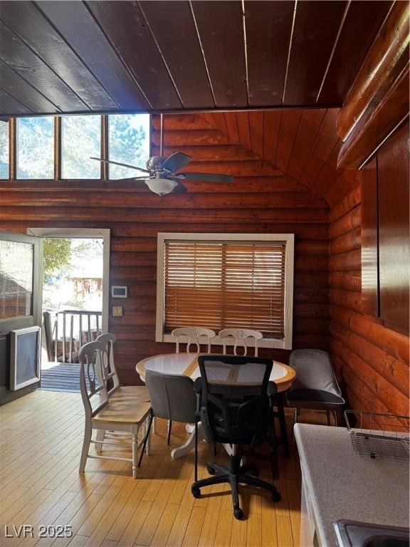
[[[255,464],[246,464],[241,465],[236,469],[232,467],[231,469],[228,469],[227,467],[215,462],[209,462],[206,467],[208,472],[213,476],[209,476],[207,479],[195,481],[191,486],[192,495],[194,498],[200,498],[201,488],[204,486],[227,482],[231,485],[233,516],[235,516],[238,520],[243,519],[243,511],[239,507],[238,484],[249,484],[250,486],[258,486],[259,488],[266,489],[270,491],[273,501],[280,501],[280,494],[273,484],[256,478],[259,474],[259,469]],[[253,476],[248,475],[247,473],[249,472],[253,474]]]

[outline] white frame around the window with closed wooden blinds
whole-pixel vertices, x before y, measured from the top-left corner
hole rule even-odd
[[[175,341],[171,334],[164,333],[164,249],[166,241],[266,241],[274,244],[285,244],[285,336],[283,338],[263,338],[258,341],[258,348],[292,349],[295,234],[184,234],[159,232],[157,239],[157,323],[155,333],[157,342]],[[238,325],[238,327],[240,326]],[[212,338],[212,344],[223,345],[223,342],[221,338],[216,336],[216,338]]]

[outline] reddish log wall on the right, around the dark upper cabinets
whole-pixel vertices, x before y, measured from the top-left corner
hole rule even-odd
[[[401,133],[401,141],[406,142],[408,126]],[[395,177],[409,184],[406,166],[394,155],[395,147],[401,145],[396,136],[379,155],[383,156],[383,168],[390,157]],[[363,313],[367,306],[361,293],[361,189],[362,184],[380,175],[381,165],[378,158],[362,171],[343,172],[330,194],[330,345],[351,407],[408,415],[409,337],[386,328],[380,318]],[[404,255],[400,256],[404,260]]]

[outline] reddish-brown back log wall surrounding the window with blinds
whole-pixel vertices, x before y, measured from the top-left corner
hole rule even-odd
[[[294,347],[329,348],[329,208],[252,150],[233,144],[196,115],[165,118],[165,152],[180,150],[200,172],[235,175],[231,184],[186,182],[189,192],[159,197],[132,183],[0,183],[0,229],[25,232],[28,226],[81,226],[111,229],[110,282],[127,285],[121,318],[110,318],[117,335],[117,367],[122,382],[137,382],[135,364],[172,345],[154,342],[157,233],[250,232],[295,234]],[[159,123],[153,120],[154,152]],[[288,352],[266,350],[286,361]]]

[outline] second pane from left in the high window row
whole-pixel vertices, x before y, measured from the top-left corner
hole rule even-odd
[[[54,178],[54,118],[17,119],[17,178]]]

